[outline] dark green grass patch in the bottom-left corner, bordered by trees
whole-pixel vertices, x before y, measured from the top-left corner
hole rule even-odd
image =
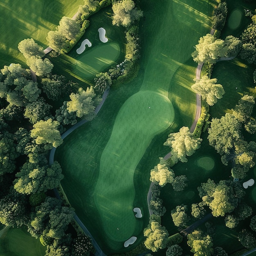
[[[7,229],[0,237],[0,256],[44,256],[46,247],[26,227]]]

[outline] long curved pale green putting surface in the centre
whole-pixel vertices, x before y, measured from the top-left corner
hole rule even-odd
[[[151,139],[166,130],[173,119],[174,109],[169,99],[152,91],[134,94],[117,115],[101,156],[94,190],[94,202],[104,230],[115,241],[124,242],[135,230],[138,221],[132,210],[135,168]]]

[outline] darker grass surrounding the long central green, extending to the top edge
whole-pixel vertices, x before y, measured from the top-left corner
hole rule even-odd
[[[155,88],[158,88],[158,92],[168,95],[173,102],[178,98],[177,102],[182,106],[182,111],[179,112],[179,118],[176,119],[174,127],[192,124],[195,113],[195,94],[190,91],[190,85],[193,84],[195,76],[195,64],[189,59],[191,58],[190,54],[193,51],[193,45],[200,36],[209,31],[209,27],[205,23],[209,24],[207,15],[212,11],[211,5],[207,1],[203,2],[204,4],[202,4],[202,1],[195,1],[189,7],[187,5],[189,1],[187,3],[164,1],[161,4],[155,3],[157,6],[154,7],[153,2],[141,1],[146,20],[141,21],[143,26],[143,58],[139,76],[136,81],[129,83],[125,88],[111,91],[96,119],[74,131],[72,135],[65,139],[65,144],[56,150],[56,159],[61,162],[65,174],[65,179],[62,182],[63,187],[72,205],[76,208],[77,214],[95,237],[99,238],[99,243],[103,244],[103,240],[106,238],[104,238],[100,218],[94,210],[95,205],[94,202],[90,201],[90,196],[98,179],[100,156],[111,135],[118,110],[125,99],[134,94],[141,84],[141,90],[155,90]],[[180,15],[179,13],[186,15],[186,21],[181,16],[178,16]],[[196,19],[193,19],[193,17],[196,17]],[[170,23],[174,22],[178,28],[171,26],[172,29],[170,29]],[[161,24],[161,29],[158,28],[159,24]],[[167,36],[165,36],[166,32],[168,32]],[[190,37],[184,37],[187,34]],[[184,65],[182,64],[183,62],[185,63]],[[175,76],[178,67],[180,69]],[[177,74],[183,74],[182,79],[179,80]],[[179,94],[181,86],[183,89],[180,91],[182,95]],[[175,94],[168,93],[170,88]],[[123,94],[124,91],[126,95]],[[193,103],[190,106],[186,105],[191,98]],[[143,200],[145,209],[145,195],[149,186],[149,170],[157,163],[159,156],[163,156],[168,152],[168,148],[164,148],[162,144],[167,134],[171,131],[173,130],[169,129],[163,134],[157,135],[151,141],[144,157],[142,157],[135,170],[134,182],[137,190],[135,203]],[[75,143],[74,139],[76,140]],[[83,164],[81,164],[80,160],[77,161],[75,159],[83,159]],[[82,168],[80,168],[81,166]],[[77,172],[86,173],[80,177],[79,175],[74,175]],[[90,216],[90,219],[88,219],[88,216]],[[140,234],[142,234],[141,230],[147,223],[145,218],[141,220]],[[95,224],[94,220],[97,220],[98,223]],[[141,240],[143,236],[141,237],[140,235],[139,238]],[[109,246],[111,247],[111,245]],[[104,248],[105,250],[107,249],[106,245],[104,245]]]

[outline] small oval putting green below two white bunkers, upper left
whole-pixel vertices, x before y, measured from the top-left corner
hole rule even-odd
[[[109,67],[118,59],[120,47],[117,43],[105,43],[77,54],[76,70],[81,78],[90,79]]]

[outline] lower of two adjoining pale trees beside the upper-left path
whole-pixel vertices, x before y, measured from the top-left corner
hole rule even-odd
[[[30,57],[27,60],[27,64],[33,70],[37,76],[46,76],[52,72],[53,64],[48,58],[41,59],[35,56]]]

